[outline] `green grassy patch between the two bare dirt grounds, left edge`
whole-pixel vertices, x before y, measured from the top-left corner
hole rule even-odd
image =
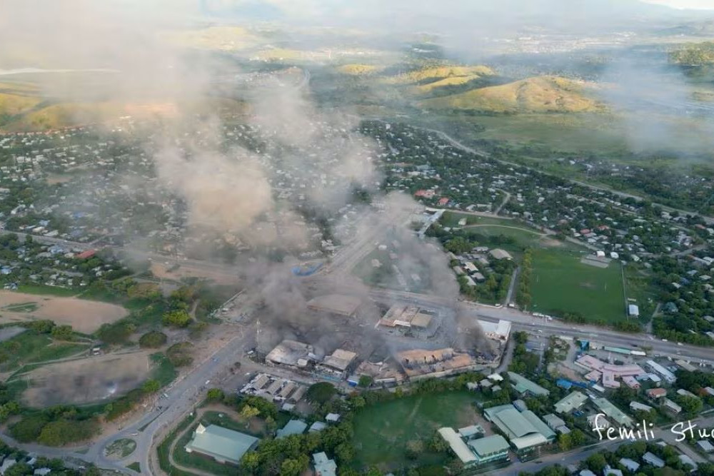
[[[21,365],[70,357],[88,348],[86,343],[59,343],[47,334],[26,330],[0,343],[0,372],[16,370]]]

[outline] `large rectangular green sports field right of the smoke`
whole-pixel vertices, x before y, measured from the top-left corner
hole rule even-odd
[[[620,263],[597,268],[580,263],[582,257],[582,253],[568,250],[533,251],[533,310],[580,313],[587,320],[605,323],[624,320]]]

